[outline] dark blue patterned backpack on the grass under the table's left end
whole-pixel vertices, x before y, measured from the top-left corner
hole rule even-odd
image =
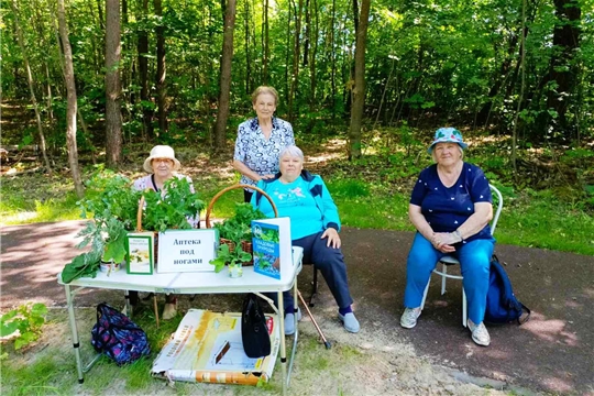
[[[107,302],[97,306],[91,344],[97,352],[108,355],[118,365],[135,362],[151,353],[144,330]]]

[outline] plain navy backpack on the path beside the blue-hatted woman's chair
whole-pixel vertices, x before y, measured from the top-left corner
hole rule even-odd
[[[514,295],[512,282],[495,254],[491,260],[490,273],[485,321],[495,324],[507,323],[512,320],[517,320],[518,324],[526,322],[530,318],[530,309],[518,301]],[[520,321],[524,311],[528,315]]]

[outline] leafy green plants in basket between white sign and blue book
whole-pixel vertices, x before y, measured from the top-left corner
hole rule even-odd
[[[226,264],[233,267],[252,262],[252,220],[264,218],[266,216],[250,204],[235,204],[235,215],[215,224],[221,239],[217,258],[210,261],[210,264],[215,265],[215,272],[221,272]]]

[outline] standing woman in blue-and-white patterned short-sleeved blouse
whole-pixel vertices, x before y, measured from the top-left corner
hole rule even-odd
[[[241,173],[241,184],[255,186],[262,179],[273,178],[278,172],[278,155],[295,144],[293,127],[274,117],[278,92],[273,87],[261,86],[252,94],[252,108],[256,116],[238,128],[233,167]],[[243,200],[250,202],[253,190],[243,191]]]

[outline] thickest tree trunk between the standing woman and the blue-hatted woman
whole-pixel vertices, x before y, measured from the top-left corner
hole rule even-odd
[[[365,106],[365,47],[367,42],[370,8],[371,0],[361,1],[361,15],[359,16],[359,29],[356,30],[354,59],[354,98],[351,110],[351,128],[349,131],[350,160],[361,157],[361,124],[363,120],[363,108]]]

